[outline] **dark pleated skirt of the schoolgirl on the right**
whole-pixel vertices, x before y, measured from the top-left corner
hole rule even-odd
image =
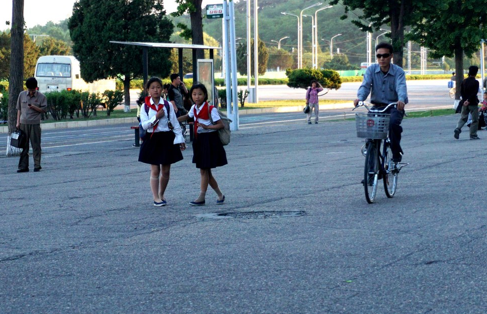
[[[193,140],[193,164],[200,169],[211,169],[228,164],[218,132],[198,133]]]

